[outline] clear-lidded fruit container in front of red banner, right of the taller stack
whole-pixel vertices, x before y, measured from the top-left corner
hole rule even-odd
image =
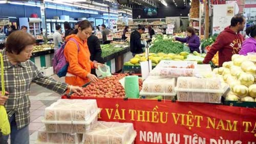
[[[133,144],[136,135],[132,123],[98,121],[93,129],[83,134],[82,144]]]

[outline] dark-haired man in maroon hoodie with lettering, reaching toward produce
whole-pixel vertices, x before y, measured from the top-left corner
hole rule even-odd
[[[219,51],[219,67],[226,61],[231,61],[233,54],[239,54],[244,40],[243,36],[239,33],[243,30],[246,23],[243,15],[235,15],[231,19],[230,26],[222,31],[216,41],[207,52],[203,63],[208,64],[214,55]]]

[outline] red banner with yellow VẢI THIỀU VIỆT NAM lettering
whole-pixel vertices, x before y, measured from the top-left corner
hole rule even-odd
[[[96,98],[99,120],[132,122],[136,144],[256,144],[256,109],[205,103]]]

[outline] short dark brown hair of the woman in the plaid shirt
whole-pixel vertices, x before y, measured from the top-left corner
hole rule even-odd
[[[6,40],[6,51],[20,54],[28,45],[34,45],[35,38],[24,31],[13,31]]]

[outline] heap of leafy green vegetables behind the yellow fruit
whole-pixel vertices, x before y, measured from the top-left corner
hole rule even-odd
[[[154,45],[152,45],[149,50],[152,53],[163,52],[165,54],[179,54],[183,51],[183,44],[179,42],[172,42],[169,40],[158,40],[154,42]]]

